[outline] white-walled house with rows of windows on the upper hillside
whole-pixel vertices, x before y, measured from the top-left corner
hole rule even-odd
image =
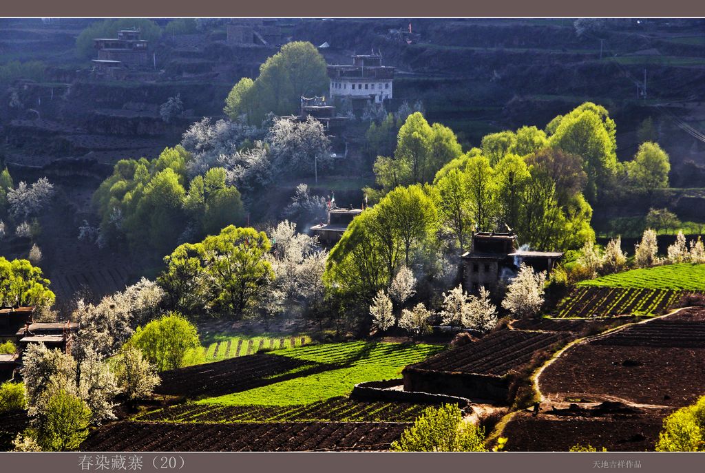
[[[381,54],[355,54],[352,65],[328,66],[332,99],[349,99],[353,110],[392,99],[394,68],[382,66]]]

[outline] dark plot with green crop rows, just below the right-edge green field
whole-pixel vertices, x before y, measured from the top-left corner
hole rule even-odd
[[[671,289],[579,285],[568,297],[560,301],[556,308],[556,317],[658,315],[673,305],[679,295],[680,291]]]

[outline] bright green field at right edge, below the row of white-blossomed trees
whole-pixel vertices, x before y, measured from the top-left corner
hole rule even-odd
[[[705,264],[666,264],[654,268],[632,269],[582,281],[579,285],[700,291],[705,290]]]

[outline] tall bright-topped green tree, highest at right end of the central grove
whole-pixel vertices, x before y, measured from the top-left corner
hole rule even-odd
[[[551,147],[582,158],[582,167],[587,173],[586,195],[590,202],[597,199],[598,190],[611,187],[618,169],[615,135],[616,125],[608,111],[603,106],[585,102],[560,117],[555,133],[548,139]]]

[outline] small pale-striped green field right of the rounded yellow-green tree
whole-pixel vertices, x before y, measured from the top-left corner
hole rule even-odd
[[[219,362],[233,357],[254,355],[259,350],[280,350],[295,348],[311,343],[307,335],[281,335],[264,333],[248,336],[241,333],[222,333],[204,339],[203,363]]]

